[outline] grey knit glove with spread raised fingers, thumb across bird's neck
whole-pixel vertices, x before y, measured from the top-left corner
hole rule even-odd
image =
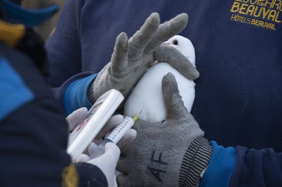
[[[181,32],[187,21],[188,15],[180,14],[160,25],[159,14],[153,13],[129,40],[125,33],[120,33],[116,38],[111,61],[88,89],[90,102],[94,103],[103,93],[113,88],[120,91],[126,100],[131,89],[146,72],[147,65],[156,60],[168,62],[184,76],[196,79],[198,71],[180,52],[172,48],[167,48],[170,53],[159,49],[165,40]]]

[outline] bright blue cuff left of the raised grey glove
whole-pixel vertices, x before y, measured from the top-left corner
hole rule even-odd
[[[64,93],[64,107],[67,115],[81,107],[91,108],[92,104],[87,98],[87,88],[97,75],[93,74],[86,78],[77,79],[67,86]]]

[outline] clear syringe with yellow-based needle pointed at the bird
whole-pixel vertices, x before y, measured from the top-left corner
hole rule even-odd
[[[139,114],[135,115],[133,118],[126,116],[121,123],[119,123],[112,132],[99,144],[95,147],[93,154],[90,159],[97,158],[105,152],[105,145],[108,142],[117,144],[117,142],[123,137],[125,132],[130,129],[134,122],[138,119]]]

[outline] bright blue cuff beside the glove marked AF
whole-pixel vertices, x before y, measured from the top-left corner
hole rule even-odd
[[[213,153],[199,186],[228,186],[236,164],[236,150],[219,146],[215,141],[210,144]]]

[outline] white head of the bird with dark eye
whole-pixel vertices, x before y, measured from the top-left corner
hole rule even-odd
[[[192,42],[182,36],[176,35],[165,41],[163,45],[170,45],[180,51],[193,65],[195,65],[195,49]]]

